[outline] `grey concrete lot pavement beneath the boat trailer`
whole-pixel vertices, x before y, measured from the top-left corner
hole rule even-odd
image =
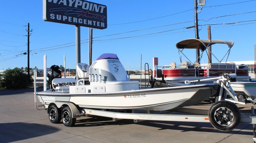
[[[81,117],[74,127],[49,121],[34,105],[34,90],[0,90],[0,143],[253,143],[252,125],[239,124],[230,132],[210,123],[171,121],[112,121]],[[253,104],[239,105],[242,112]],[[189,108],[209,109],[209,104]],[[256,107],[256,106],[254,106]]]

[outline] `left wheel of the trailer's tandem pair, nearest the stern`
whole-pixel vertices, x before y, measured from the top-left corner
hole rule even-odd
[[[52,123],[60,123],[61,122],[61,109],[56,107],[56,105],[52,105],[49,108],[49,119]]]

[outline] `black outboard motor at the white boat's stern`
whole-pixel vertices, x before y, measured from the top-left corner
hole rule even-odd
[[[52,89],[52,80],[55,78],[61,78],[61,68],[58,65],[52,65],[47,73],[47,84],[49,89]]]

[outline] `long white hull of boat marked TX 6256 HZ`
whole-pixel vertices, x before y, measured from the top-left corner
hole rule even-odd
[[[214,87],[216,87],[215,84],[201,84],[193,86],[129,90],[114,93],[73,94],[44,91],[38,93],[38,96],[39,100],[45,104],[54,101],[67,101],[73,102],[82,108],[146,109],[161,111],[178,107],[191,99],[194,95],[197,97],[205,97],[205,92],[202,91],[208,91]],[[209,96],[211,95],[207,95],[207,97]],[[201,100],[197,100],[197,103],[198,102],[201,102]]]

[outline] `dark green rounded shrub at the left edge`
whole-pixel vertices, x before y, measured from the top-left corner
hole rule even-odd
[[[27,88],[32,85],[33,81],[30,76],[22,73],[22,70],[18,67],[15,67],[13,70],[8,69],[0,75],[0,87],[5,89],[20,89]]]

